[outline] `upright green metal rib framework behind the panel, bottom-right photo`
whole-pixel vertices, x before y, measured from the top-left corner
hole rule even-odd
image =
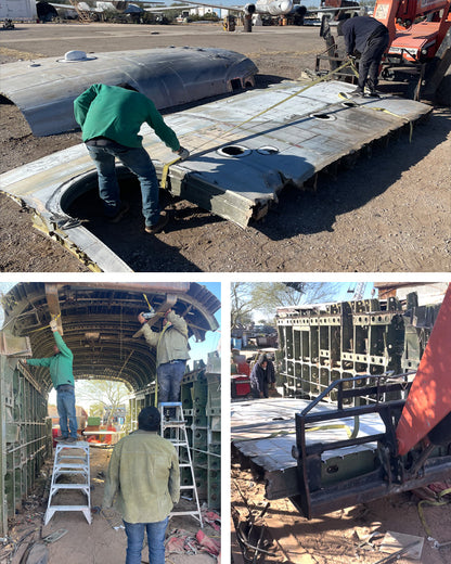
[[[440,306],[409,306],[389,298],[280,308],[285,395],[314,398],[335,380],[416,370]]]

